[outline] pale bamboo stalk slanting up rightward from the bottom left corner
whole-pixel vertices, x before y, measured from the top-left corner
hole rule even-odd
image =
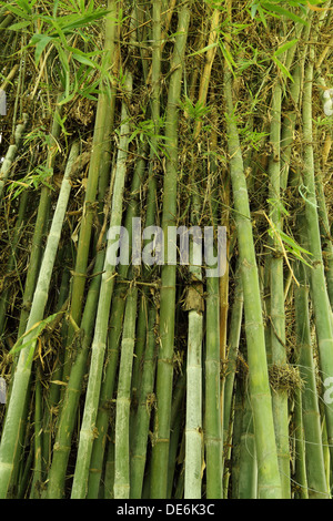
[[[48,300],[51,274],[57,256],[62,223],[64,219],[65,210],[71,191],[70,174],[72,165],[78,156],[78,153],[79,145],[78,142],[75,142],[72,145],[69,155],[48,243],[44,251],[37,288],[33,296],[32,307],[27,324],[27,336],[22,339],[22,349],[20,351],[20,357],[13,377],[12,391],[0,445],[0,497],[2,498],[6,498],[7,496],[10,478],[13,471],[13,462],[17,452],[17,439],[19,436],[19,426],[23,413],[24,398],[27,396],[31,375],[31,366],[33,358],[31,354],[33,354],[36,346],[36,340],[32,340],[34,331],[31,328],[33,328],[33,326],[36,326],[40,320],[43,319],[43,314]],[[29,341],[33,341],[32,346],[24,348],[24,345],[27,345]]]

